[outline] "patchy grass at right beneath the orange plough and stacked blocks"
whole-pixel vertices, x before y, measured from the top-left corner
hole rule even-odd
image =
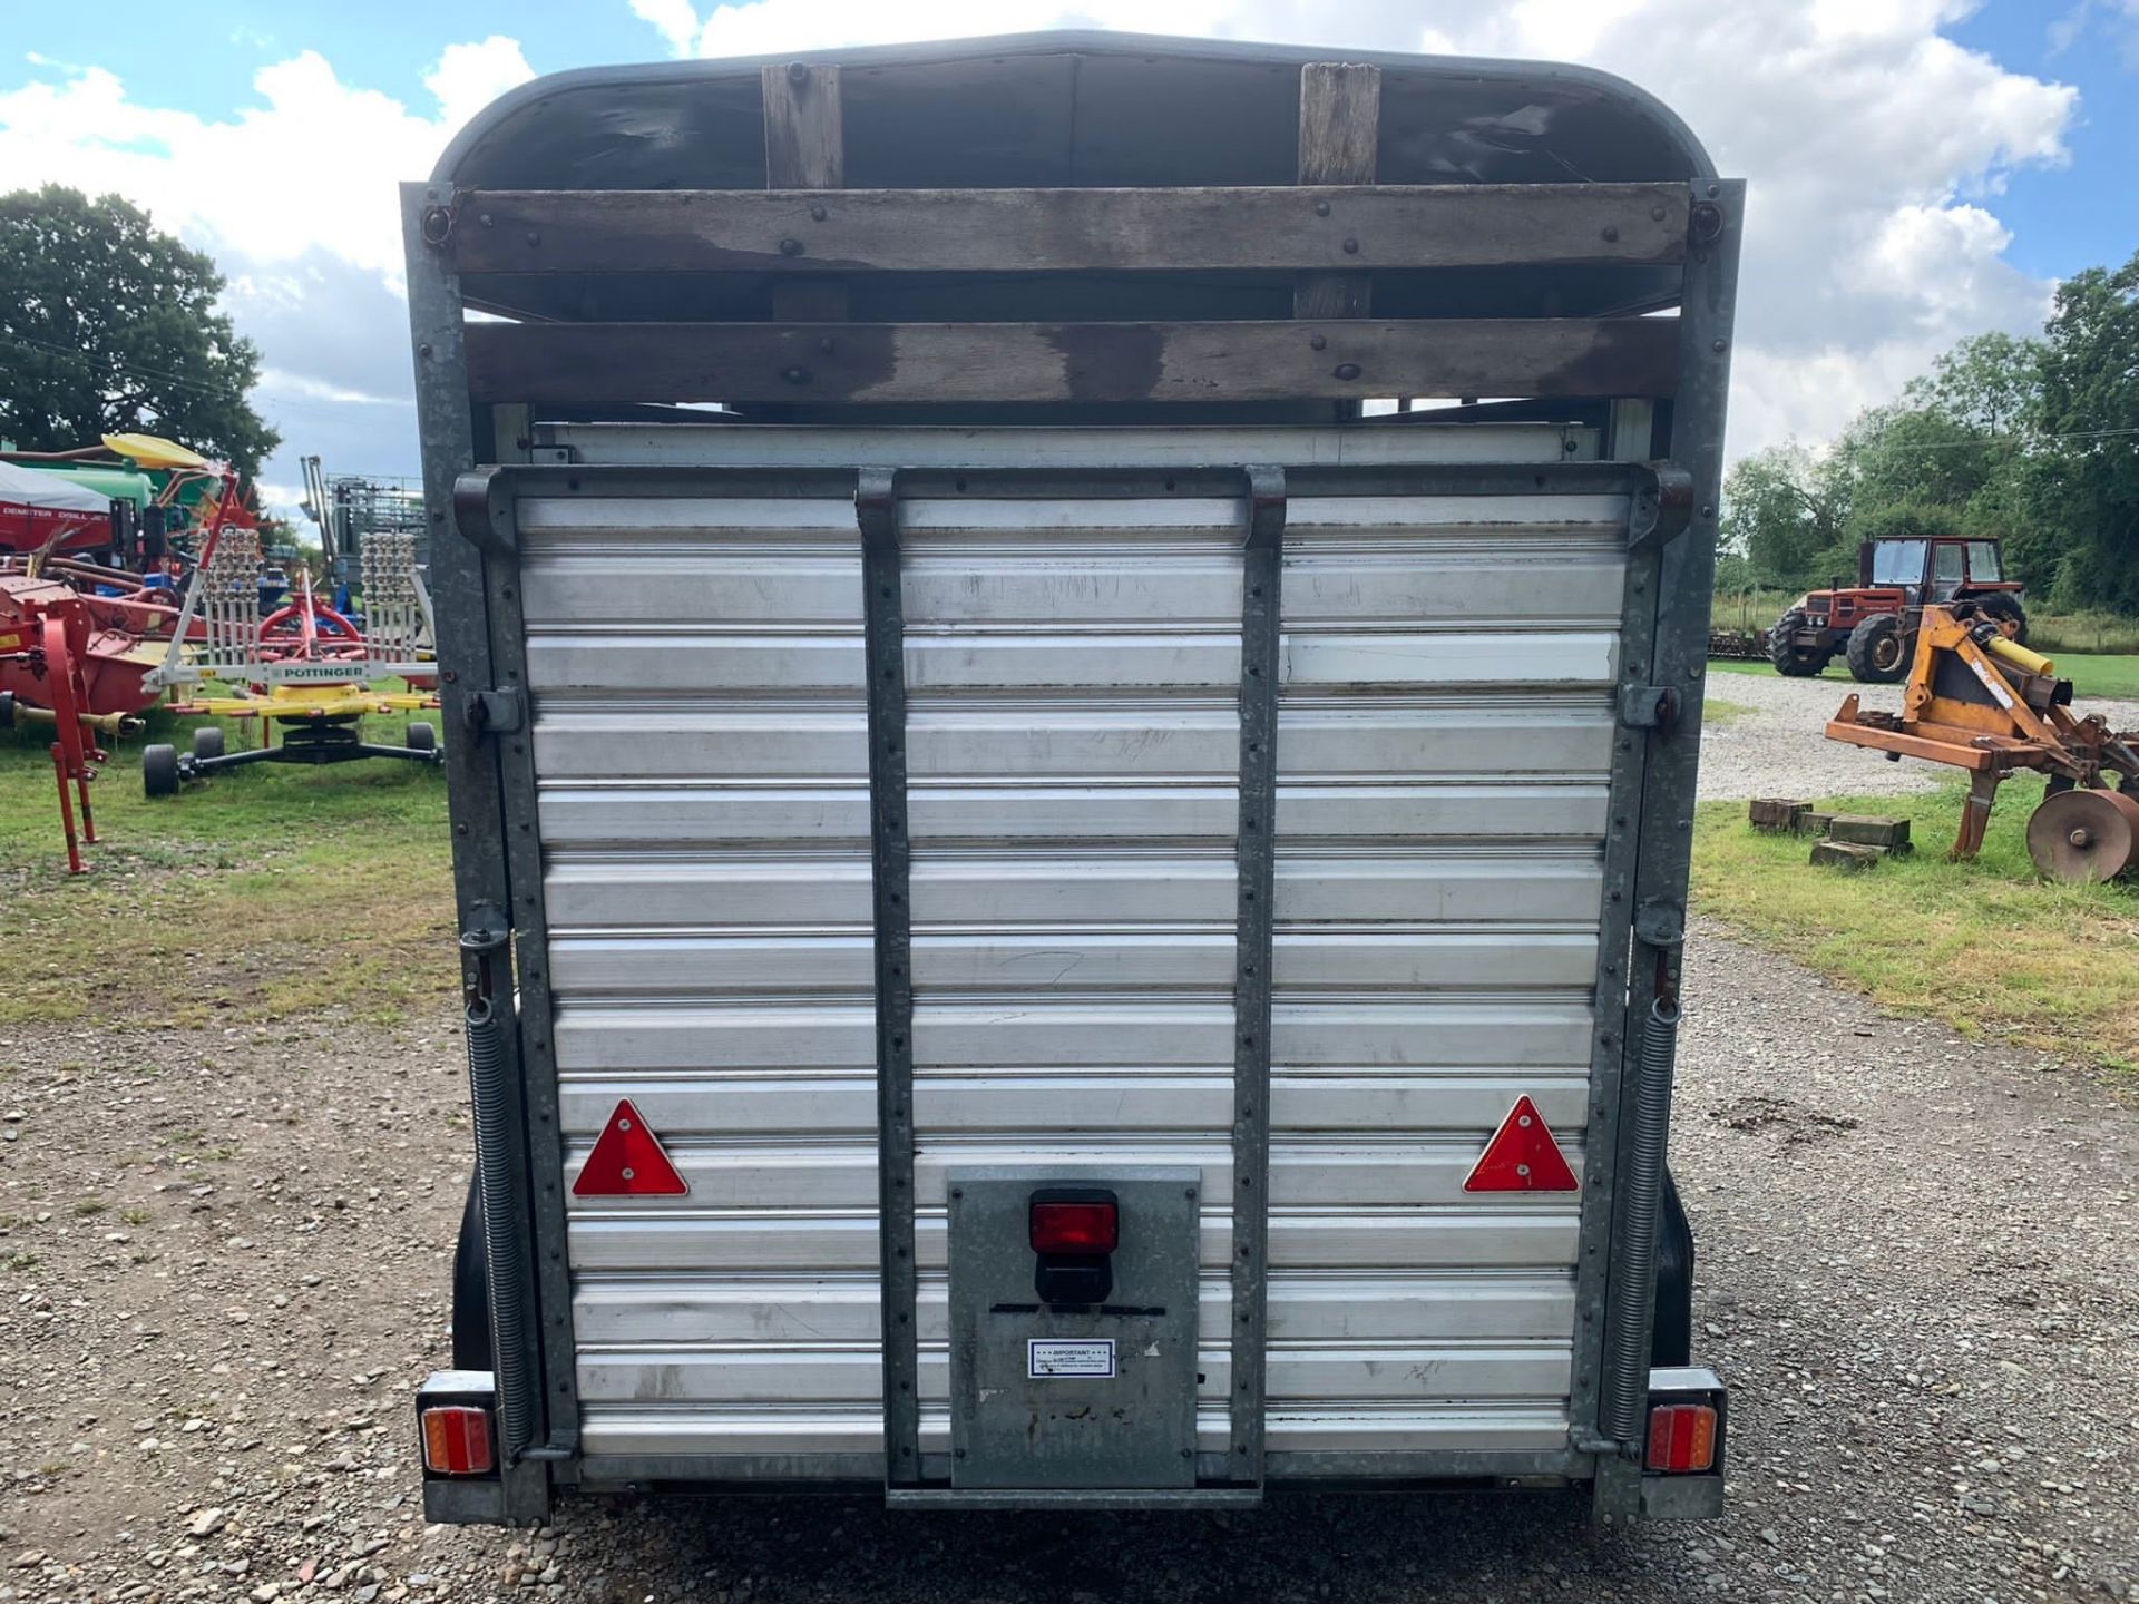
[[[1867,873],[1814,868],[1810,843],[1758,834],[1743,802],[1703,802],[1694,905],[1880,1007],[1961,1035],[2139,1067],[2139,888],[2053,885],[2028,858],[2032,781],[2011,781],[1983,853],[1946,862],[1966,789],[1827,798],[1908,815],[1917,851]]]

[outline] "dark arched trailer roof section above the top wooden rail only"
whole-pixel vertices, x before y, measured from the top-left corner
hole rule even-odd
[[[849,188],[1292,184],[1301,66],[1382,68],[1382,184],[1713,178],[1656,96],[1553,62],[1046,32],[535,79],[438,158],[460,188],[764,184],[759,71],[836,62]]]

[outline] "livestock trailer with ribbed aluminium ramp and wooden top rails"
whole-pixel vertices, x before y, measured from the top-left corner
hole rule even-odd
[[[599,68],[404,190],[434,1521],[1713,1514],[1664,1168],[1743,188],[1517,62]]]

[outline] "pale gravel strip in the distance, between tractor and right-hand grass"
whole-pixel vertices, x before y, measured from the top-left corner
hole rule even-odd
[[[1818,678],[1786,680],[1780,674],[1709,674],[1709,699],[1735,701],[1752,712],[1735,723],[1701,731],[1701,796],[1884,796],[1929,791],[1959,774],[1955,768],[1904,759],[1889,764],[1880,753],[1844,746],[1827,738],[1827,721],[1842,697],[1857,691],[1865,708],[1902,710],[1899,684],[1857,684]],[[2139,701],[2086,697],[2081,712],[2098,712],[2111,729],[2139,729]]]

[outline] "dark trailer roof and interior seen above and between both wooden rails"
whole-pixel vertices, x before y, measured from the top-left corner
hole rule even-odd
[[[1662,103],[1606,73],[1546,62],[1050,32],[809,56],[558,73],[505,94],[438,160],[468,190],[761,190],[764,71],[838,68],[849,190],[1228,188],[1298,182],[1301,73],[1380,71],[1373,182],[1690,184],[1707,152]],[[791,71],[802,71],[794,66]],[[1624,317],[1677,304],[1679,269],[1598,261],[1538,269],[1371,272],[1388,317]],[[475,269],[471,306],[537,321],[749,321],[764,276],[522,276]],[[1286,276],[896,274],[856,319],[1290,317]]]

